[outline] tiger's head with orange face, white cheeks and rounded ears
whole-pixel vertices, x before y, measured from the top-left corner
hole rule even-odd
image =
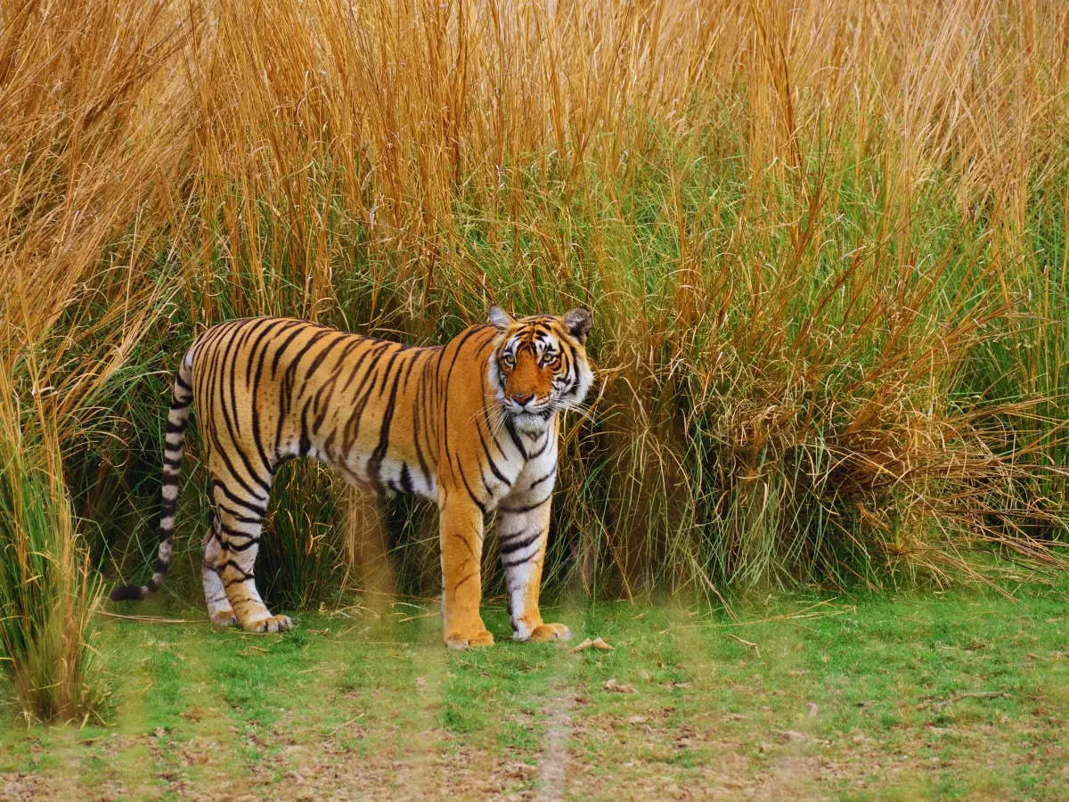
[[[556,412],[580,404],[593,383],[585,348],[590,311],[514,320],[492,306],[489,318],[500,331],[490,356],[491,386],[515,428],[537,436]]]

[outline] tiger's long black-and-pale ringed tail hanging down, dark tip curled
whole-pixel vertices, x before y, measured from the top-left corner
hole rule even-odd
[[[148,585],[120,585],[111,591],[111,601],[138,601],[145,599],[164,584],[164,576],[171,565],[174,545],[174,503],[179,497],[179,477],[182,474],[182,445],[185,442],[186,418],[193,402],[192,351],[186,354],[174,374],[171,408],[167,414],[167,433],[164,437],[164,482],[160,489],[159,553],[152,579]]]

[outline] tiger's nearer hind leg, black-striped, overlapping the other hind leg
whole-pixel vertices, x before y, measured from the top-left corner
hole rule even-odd
[[[235,494],[218,477],[214,482],[217,539],[216,573],[230,601],[237,623],[253,632],[283,632],[293,628],[289,616],[275,616],[257,590],[253,565],[260,546],[265,497]]]

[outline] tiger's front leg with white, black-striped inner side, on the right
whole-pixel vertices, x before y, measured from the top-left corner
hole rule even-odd
[[[549,508],[549,495],[544,489],[541,499],[513,497],[497,508],[497,540],[515,641],[544,643],[568,641],[572,636],[562,623],[545,623],[538,606]]]

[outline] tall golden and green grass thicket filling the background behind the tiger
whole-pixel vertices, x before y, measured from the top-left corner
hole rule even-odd
[[[87,631],[102,572],[154,547],[170,374],[239,315],[440,342],[492,300],[589,306],[551,590],[1060,566],[1067,51],[1053,1],[5,2],[0,633],[27,710],[98,694]],[[291,471],[259,569],[288,608],[337,591],[367,518]],[[427,513],[384,526],[407,592],[436,583]]]

